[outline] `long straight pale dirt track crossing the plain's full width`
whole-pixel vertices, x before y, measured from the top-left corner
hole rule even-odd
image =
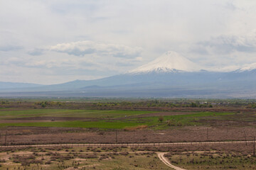
[[[160,147],[160,146],[186,146],[186,145],[218,145],[218,144],[238,144],[238,143],[253,143],[253,140],[240,141],[214,141],[214,142],[166,142],[166,143],[74,143],[74,144],[42,144],[42,145],[0,145],[1,147]]]

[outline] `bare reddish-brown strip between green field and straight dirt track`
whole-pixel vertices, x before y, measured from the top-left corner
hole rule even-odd
[[[183,127],[169,130],[103,131],[83,128],[8,127],[6,145],[49,143],[147,143],[253,140],[256,130],[245,128]],[[117,140],[117,141],[116,141]],[[1,137],[1,145],[5,138]]]

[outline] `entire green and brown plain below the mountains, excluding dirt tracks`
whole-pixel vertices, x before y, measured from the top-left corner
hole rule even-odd
[[[159,153],[183,169],[256,169],[252,142],[246,142],[256,136],[253,104],[138,102],[1,102],[0,169],[170,169]],[[244,143],[68,147],[210,141]]]

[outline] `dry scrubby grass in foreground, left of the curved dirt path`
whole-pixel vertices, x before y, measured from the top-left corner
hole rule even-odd
[[[6,148],[0,150],[0,157],[6,158],[0,169],[169,169],[154,152],[128,151],[127,147]]]

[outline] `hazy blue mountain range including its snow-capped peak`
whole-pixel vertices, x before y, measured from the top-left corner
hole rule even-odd
[[[166,52],[125,74],[96,80],[40,85],[0,82],[0,96],[255,98],[256,63],[208,69]]]

